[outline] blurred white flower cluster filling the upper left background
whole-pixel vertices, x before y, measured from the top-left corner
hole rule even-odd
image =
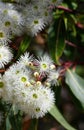
[[[23,33],[34,36],[52,21],[50,5],[61,0],[9,0],[0,1],[0,68],[11,61],[13,55],[8,43]]]

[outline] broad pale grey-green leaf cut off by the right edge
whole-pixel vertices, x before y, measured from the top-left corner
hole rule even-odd
[[[77,75],[75,72],[67,69],[66,72],[66,83],[71,89],[72,93],[81,102],[84,107],[84,80]]]

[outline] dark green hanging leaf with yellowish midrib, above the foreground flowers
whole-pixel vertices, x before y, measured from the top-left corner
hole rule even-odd
[[[62,56],[65,48],[65,24],[62,18],[56,19],[55,23],[48,32],[48,47],[52,59],[59,63],[59,58]]]

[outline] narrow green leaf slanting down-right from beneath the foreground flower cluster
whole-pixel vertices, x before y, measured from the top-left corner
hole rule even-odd
[[[76,130],[73,128],[62,116],[59,112],[57,106],[53,106],[53,108],[49,111],[49,113],[67,130]]]

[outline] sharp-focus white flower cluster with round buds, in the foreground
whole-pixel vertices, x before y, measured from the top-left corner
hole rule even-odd
[[[0,78],[2,98],[30,118],[43,117],[54,105],[51,85],[57,84],[59,71],[45,54],[35,59],[25,53]]]

